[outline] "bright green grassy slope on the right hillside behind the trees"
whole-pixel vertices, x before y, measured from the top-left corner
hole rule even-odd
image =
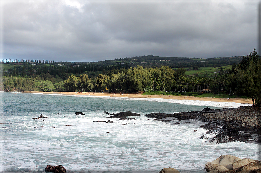
[[[199,74],[203,74],[203,73],[219,73],[219,71],[221,70],[221,68],[223,68],[223,70],[227,70],[227,69],[231,69],[232,65],[228,65],[228,66],[221,66],[221,67],[216,67],[216,68],[212,68],[212,67],[200,67],[198,68],[198,70],[191,70],[191,71],[186,71],[185,75],[199,75]],[[189,68],[184,68],[186,70],[188,70]]]

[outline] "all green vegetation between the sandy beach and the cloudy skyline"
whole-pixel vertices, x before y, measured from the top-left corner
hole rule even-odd
[[[241,60],[238,65],[231,65]],[[37,60],[38,65],[31,65],[30,62],[36,60],[23,60],[22,65],[8,60],[2,62],[5,69],[0,69],[3,71],[1,89],[96,92],[108,88],[113,92],[151,90],[155,94],[193,96],[233,91],[255,99],[257,105],[261,98],[261,63],[255,50],[247,57],[198,59],[148,55],[88,63]]]

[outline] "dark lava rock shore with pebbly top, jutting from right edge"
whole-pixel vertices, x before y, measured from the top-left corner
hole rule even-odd
[[[261,108],[242,106],[238,108],[209,109],[202,111],[180,112],[173,114],[151,113],[145,115],[160,120],[174,117],[176,120],[198,119],[206,122],[201,128],[209,130],[201,139],[207,139],[206,144],[226,143],[230,141],[260,143]],[[175,120],[174,119],[174,120]],[[163,120],[164,121],[164,120]],[[168,120],[169,121],[169,120]],[[208,134],[215,134],[209,138]]]

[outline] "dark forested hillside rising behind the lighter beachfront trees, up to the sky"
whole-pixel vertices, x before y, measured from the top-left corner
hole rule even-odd
[[[89,77],[96,77],[98,74],[113,69],[129,69],[130,67],[160,67],[162,65],[171,68],[198,69],[202,67],[221,67],[226,65],[238,64],[243,56],[237,57],[214,57],[207,59],[186,58],[186,57],[160,57],[160,56],[135,56],[99,62],[54,62],[50,60],[3,60],[1,61],[0,71],[3,76],[31,76],[41,73],[50,74],[54,77],[58,74],[62,79],[68,78],[69,74],[86,73]],[[64,76],[65,73],[66,76]]]

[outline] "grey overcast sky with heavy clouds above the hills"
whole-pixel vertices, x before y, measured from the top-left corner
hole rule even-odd
[[[248,55],[255,0],[1,0],[0,59],[92,62]]]

